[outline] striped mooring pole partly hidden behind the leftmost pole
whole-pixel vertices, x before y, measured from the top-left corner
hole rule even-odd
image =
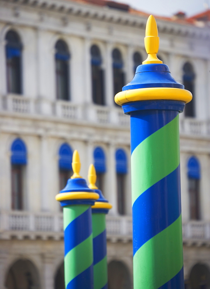
[[[89,188],[100,196],[92,206],[94,289],[108,289],[106,214],[112,205],[95,185],[96,170],[93,164],[89,167],[88,181]]]

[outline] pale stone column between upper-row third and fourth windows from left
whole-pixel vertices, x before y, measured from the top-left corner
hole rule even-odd
[[[105,63],[105,103],[109,106],[114,105],[114,85],[112,70],[112,42],[106,43],[106,63]]]

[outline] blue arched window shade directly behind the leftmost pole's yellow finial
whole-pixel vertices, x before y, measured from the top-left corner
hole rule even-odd
[[[72,171],[72,149],[68,144],[62,144],[59,149],[59,168]]]

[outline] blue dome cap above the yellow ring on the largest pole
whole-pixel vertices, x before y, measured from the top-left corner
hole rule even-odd
[[[172,87],[184,89],[184,85],[177,82],[166,64],[141,64],[136,68],[132,81],[123,86],[124,90],[148,87]]]

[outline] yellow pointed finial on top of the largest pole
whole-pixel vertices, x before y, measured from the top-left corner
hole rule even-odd
[[[148,57],[142,64],[162,63],[162,61],[157,58],[159,37],[157,23],[153,15],[150,15],[147,19],[144,44]]]

